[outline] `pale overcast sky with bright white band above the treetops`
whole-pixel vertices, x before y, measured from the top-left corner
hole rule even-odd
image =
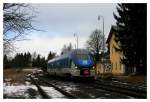
[[[85,48],[86,40],[95,29],[102,30],[104,17],[105,37],[107,38],[111,25],[115,24],[113,12],[116,4],[32,4],[36,18],[33,25],[44,32],[34,31],[25,40],[16,43],[17,52],[36,51],[47,56],[49,51],[60,54],[64,44],[72,43],[75,47],[74,33],[79,37],[79,48]]]

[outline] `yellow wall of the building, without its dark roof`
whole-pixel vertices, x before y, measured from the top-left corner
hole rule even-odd
[[[114,40],[115,35],[113,34],[110,42],[109,42],[109,47],[110,47],[110,61],[112,64],[112,74],[125,74],[125,66],[124,64],[121,63],[120,58],[123,57],[123,54],[119,51],[115,50],[116,48],[119,48],[118,43],[115,42]]]

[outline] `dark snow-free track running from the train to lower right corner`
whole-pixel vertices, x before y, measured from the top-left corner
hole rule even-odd
[[[134,98],[142,98],[142,99],[147,98],[146,90],[139,90],[136,88],[133,89],[133,88],[130,88],[130,86],[126,87],[126,85],[123,85],[123,84],[111,83],[111,81],[96,80],[96,81],[92,81],[91,83],[89,81],[86,82],[86,81],[80,80],[80,81],[75,81],[75,83],[76,82],[85,83],[86,85],[92,86],[95,89],[103,89],[103,90],[110,91],[110,92],[129,95]]]

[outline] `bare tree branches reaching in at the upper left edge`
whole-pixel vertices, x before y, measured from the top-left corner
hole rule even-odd
[[[3,4],[3,46],[4,53],[14,50],[14,42],[24,39],[27,31],[36,30],[32,25],[35,16],[26,13],[29,4]]]

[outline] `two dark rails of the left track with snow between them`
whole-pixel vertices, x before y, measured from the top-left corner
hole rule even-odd
[[[41,88],[41,86],[40,86],[40,84],[38,83],[37,80],[35,80],[35,79],[32,78],[31,76],[30,76],[30,79],[31,79],[31,81],[36,85],[36,87],[38,88],[38,91],[39,91],[39,93],[41,94],[42,98],[44,98],[44,99],[49,99],[49,98],[51,98],[51,97]],[[66,91],[64,91],[64,90],[62,90],[61,88],[55,86],[54,84],[48,82],[47,80],[45,80],[45,79],[43,79],[43,78],[40,78],[39,80],[42,81],[43,83],[47,84],[48,86],[53,87],[55,90],[57,90],[58,92],[60,92],[60,93],[63,94],[64,96],[66,96],[67,98],[69,98],[69,99],[77,99],[76,96],[74,96],[74,95],[72,95],[72,94],[70,94],[70,93],[68,93],[68,92],[66,92]]]

